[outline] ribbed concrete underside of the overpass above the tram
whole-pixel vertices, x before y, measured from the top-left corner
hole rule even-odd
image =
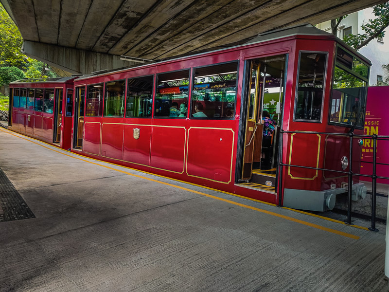
[[[385,2],[385,0],[0,1],[15,20],[24,40],[145,59],[161,59],[222,47],[230,43],[243,43],[265,31],[305,22],[315,24]],[[43,55],[40,57],[45,58]]]

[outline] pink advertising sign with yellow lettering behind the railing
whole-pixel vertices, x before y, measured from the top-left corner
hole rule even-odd
[[[371,86],[368,90],[365,117],[365,135],[389,136],[389,86]],[[389,164],[389,140],[377,141],[377,163]],[[362,146],[361,173],[372,174],[373,140],[364,139]],[[376,174],[389,177],[389,166],[377,164]],[[369,178],[360,178],[361,181],[371,181]],[[377,183],[389,184],[389,180],[378,179]]]

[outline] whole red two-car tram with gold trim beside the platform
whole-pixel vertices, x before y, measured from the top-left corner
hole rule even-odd
[[[324,211],[348,188],[347,175],[335,171],[349,171],[349,161],[359,173],[362,148],[354,139],[350,157],[347,134],[363,134],[370,66],[339,38],[296,26],[227,49],[69,79],[74,97],[64,93],[60,105],[53,95],[54,109],[62,109],[62,140],[55,136],[58,110],[53,129],[39,136],[45,132],[39,118],[47,113],[35,110],[46,92],[37,89],[49,83],[14,82],[10,128],[51,143],[66,141],[60,144],[65,149],[69,139],[71,151],[91,158]],[[34,105],[31,99],[26,108],[20,96],[30,98],[33,88]],[[72,112],[64,115],[68,107]],[[38,117],[36,135],[27,115]],[[280,158],[317,169],[281,169]],[[354,200],[364,197],[357,176],[352,188]]]

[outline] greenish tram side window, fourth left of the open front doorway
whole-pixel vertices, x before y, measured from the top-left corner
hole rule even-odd
[[[125,80],[106,82],[104,116],[124,117]]]

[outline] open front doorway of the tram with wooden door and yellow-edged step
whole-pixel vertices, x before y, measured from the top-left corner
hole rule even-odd
[[[247,61],[246,111],[240,182],[275,191],[280,126],[283,116],[284,72],[287,55]]]

